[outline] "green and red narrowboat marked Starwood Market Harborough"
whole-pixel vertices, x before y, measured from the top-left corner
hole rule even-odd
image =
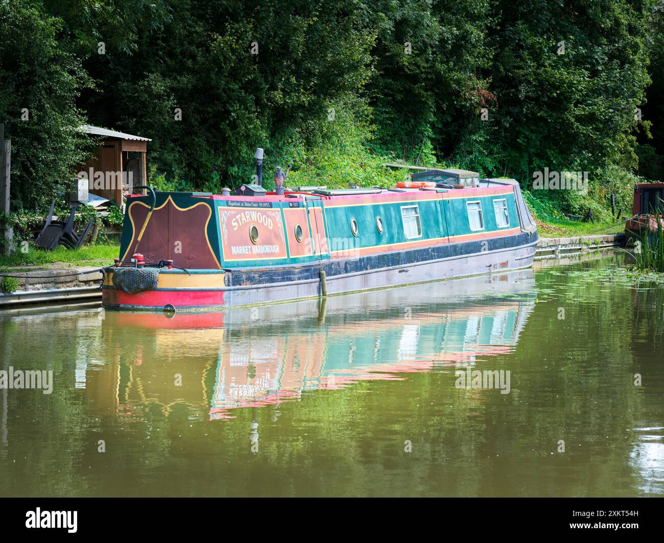
[[[218,311],[533,263],[537,228],[517,181],[432,170],[398,185],[131,194],[102,305]]]

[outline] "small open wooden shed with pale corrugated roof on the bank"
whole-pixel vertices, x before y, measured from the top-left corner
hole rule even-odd
[[[145,154],[147,142],[152,140],[91,125],[83,125],[80,130],[101,136],[103,141],[76,173],[86,173],[90,193],[116,200],[118,206],[123,206],[130,191],[128,184],[135,187],[147,181]]]

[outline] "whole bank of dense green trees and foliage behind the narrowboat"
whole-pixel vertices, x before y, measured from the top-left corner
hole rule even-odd
[[[0,0],[0,10],[0,118],[19,205],[46,199],[35,187],[55,187],[80,159],[65,128],[82,116],[151,137],[161,188],[248,181],[258,146],[266,172],[293,163],[301,184],[385,183],[385,159],[525,187],[544,167],[589,171],[588,196],[535,194],[572,211],[600,210],[610,192],[626,202],[634,174],[662,175],[655,0]]]

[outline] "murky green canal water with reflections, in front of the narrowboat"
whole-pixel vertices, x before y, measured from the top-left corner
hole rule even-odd
[[[226,314],[5,313],[0,370],[47,373],[0,390],[0,495],[663,495],[664,285],[570,260]]]

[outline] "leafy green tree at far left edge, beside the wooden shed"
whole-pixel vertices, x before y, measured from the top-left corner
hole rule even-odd
[[[12,140],[13,205],[43,206],[88,153],[73,128],[89,84],[80,60],[56,39],[59,22],[27,3],[0,1],[0,122]]]

